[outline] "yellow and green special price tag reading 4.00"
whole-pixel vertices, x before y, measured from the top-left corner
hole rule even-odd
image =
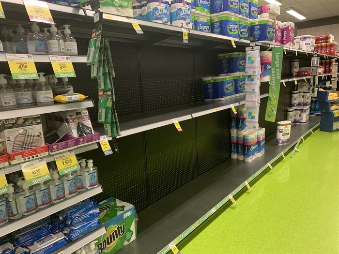
[[[13,79],[39,78],[32,55],[6,54]]]

